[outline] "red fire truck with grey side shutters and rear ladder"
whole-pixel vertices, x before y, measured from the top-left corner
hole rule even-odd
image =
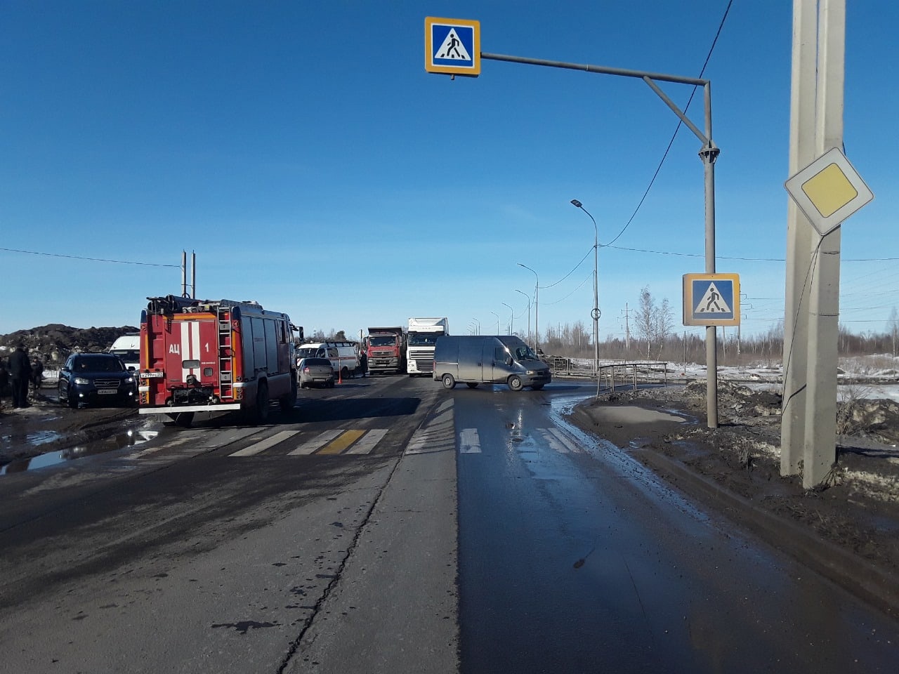
[[[189,426],[195,412],[242,411],[255,423],[297,402],[294,332],[287,314],[256,302],[147,297],[140,315],[139,412]]]

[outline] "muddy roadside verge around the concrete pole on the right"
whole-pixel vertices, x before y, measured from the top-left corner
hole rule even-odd
[[[805,490],[801,478],[780,475],[780,396],[725,383],[718,392],[718,428],[706,426],[705,383],[604,395],[575,408],[584,430],[635,451],[662,477],[661,455],[754,507],[791,520],[825,541],[899,578],[899,405],[893,401],[841,404],[849,431],[837,439],[837,461],[822,488]],[[637,405],[680,412],[692,423],[601,423],[600,410]],[[666,464],[671,466],[672,464]]]

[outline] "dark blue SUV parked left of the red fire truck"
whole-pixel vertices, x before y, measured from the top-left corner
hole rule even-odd
[[[58,390],[59,402],[72,408],[138,402],[134,373],[114,353],[73,353],[59,370]]]

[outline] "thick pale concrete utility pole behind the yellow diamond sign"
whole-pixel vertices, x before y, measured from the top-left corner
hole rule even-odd
[[[845,0],[794,0],[790,175],[842,148],[845,33]],[[780,473],[801,461],[806,489],[836,460],[840,243],[840,227],[822,237],[788,202]]]

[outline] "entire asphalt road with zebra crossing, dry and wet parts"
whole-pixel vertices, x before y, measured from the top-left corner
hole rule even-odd
[[[5,475],[4,668],[895,671],[895,622],[567,427],[587,395],[350,380]]]

